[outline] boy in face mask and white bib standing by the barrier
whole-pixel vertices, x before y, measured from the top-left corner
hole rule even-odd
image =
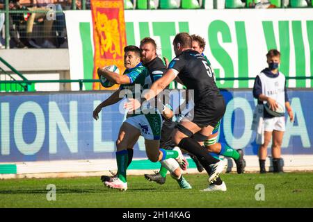
[[[272,158],[273,171],[275,173],[283,172],[281,146],[282,137],[285,131],[284,116],[273,116],[268,113],[264,105],[268,103],[271,110],[278,108],[278,103],[287,108],[290,121],[294,121],[294,113],[289,104],[286,79],[284,74],[278,70],[280,64],[280,52],[276,49],[271,49],[266,54],[268,68],[263,69],[255,78],[253,87],[253,96],[257,99],[257,109],[254,115],[252,129],[257,130],[257,133],[262,134],[262,139],[257,141],[259,146],[259,167],[260,173],[266,173],[265,160],[267,155],[267,147],[273,137],[272,142]],[[259,118],[257,118],[259,115]],[[257,139],[258,140],[258,139]]]

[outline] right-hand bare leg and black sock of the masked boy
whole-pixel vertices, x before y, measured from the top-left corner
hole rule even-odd
[[[272,157],[274,173],[282,173],[281,147],[284,131],[273,130]]]

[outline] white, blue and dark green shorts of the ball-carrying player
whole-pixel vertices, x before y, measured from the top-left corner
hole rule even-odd
[[[163,124],[161,114],[139,114],[128,117],[125,122],[138,128],[145,139],[159,140],[161,137]]]

